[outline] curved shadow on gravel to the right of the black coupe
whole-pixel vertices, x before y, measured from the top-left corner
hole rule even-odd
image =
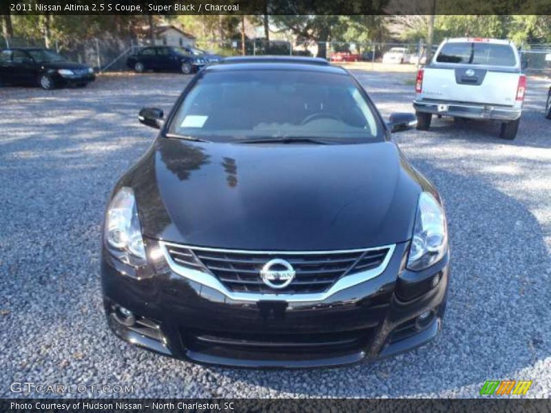
[[[549,356],[545,320],[551,260],[537,220],[523,204],[475,176],[449,173],[426,161],[415,165],[426,176],[439,177],[435,183],[449,220],[453,271],[439,337],[371,365],[213,372],[307,396],[450,396],[469,385],[472,396],[484,381],[518,379],[519,370]]]

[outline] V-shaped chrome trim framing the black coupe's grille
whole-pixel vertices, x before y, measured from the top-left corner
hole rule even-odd
[[[304,301],[323,301],[324,299],[327,299],[331,295],[338,293],[339,291],[342,291],[346,288],[350,288],[352,286],[355,286],[357,284],[360,284],[362,282],[366,282],[369,279],[373,279],[380,275],[385,269],[386,266],[388,266],[388,262],[390,262],[391,257],[393,256],[393,253],[396,248],[396,244],[389,244],[389,245],[383,245],[383,246],[377,246],[373,248],[356,248],[356,249],[350,249],[350,250],[334,250],[334,251],[256,251],[256,250],[237,250],[237,249],[225,249],[225,248],[208,248],[204,246],[193,246],[193,245],[185,245],[185,244],[174,244],[171,242],[165,242],[165,241],[159,241],[161,251],[163,251],[163,255],[165,257],[165,260],[167,261],[167,264],[171,268],[174,273],[181,275],[182,277],[185,277],[187,279],[191,279],[191,281],[197,282],[198,284],[202,284],[203,286],[207,286],[210,288],[214,288],[214,290],[217,290],[219,293],[222,293],[226,297],[232,300],[236,301],[260,301],[260,300],[267,300],[267,301],[287,301],[287,302],[304,302]],[[201,267],[202,270],[198,270],[195,268],[189,268],[185,266],[178,265],[177,262],[172,260],[170,254],[169,254],[169,248],[177,247],[177,248],[185,248],[189,249],[193,255],[196,255],[194,251],[211,251],[215,253],[236,253],[236,254],[247,254],[247,255],[331,255],[331,254],[346,254],[346,253],[366,253],[368,251],[377,251],[382,249],[388,249],[388,252],[386,253],[386,256],[384,257],[384,260],[382,263],[375,267],[371,268],[366,271],[360,271],[353,274],[345,273],[342,277],[337,279],[335,283],[326,291],[322,293],[244,293],[244,292],[235,292],[231,291],[226,286],[224,286],[220,280],[215,276],[212,275],[208,268],[204,265],[198,266],[197,264],[195,267]],[[200,260],[199,260],[200,262]],[[194,266],[194,264],[191,264],[191,262],[185,263],[189,266]]]

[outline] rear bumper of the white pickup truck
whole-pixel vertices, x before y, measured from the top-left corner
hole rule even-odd
[[[470,119],[517,120],[521,117],[521,107],[460,103],[446,100],[413,100],[415,111],[443,116],[457,116]]]

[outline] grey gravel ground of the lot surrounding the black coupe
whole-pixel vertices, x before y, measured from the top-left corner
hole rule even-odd
[[[383,114],[410,112],[412,74],[355,72]],[[446,201],[453,278],[441,335],[373,364],[333,370],[194,366],[107,330],[100,223],[119,176],[189,77],[107,76],[87,89],[0,89],[0,395],[10,383],[127,384],[130,396],[477,396],[487,379],[551,396],[551,121],[530,78],[512,142],[490,123],[435,120],[395,139]],[[72,395],[72,394],[71,394]],[[111,396],[94,393],[92,396]]]

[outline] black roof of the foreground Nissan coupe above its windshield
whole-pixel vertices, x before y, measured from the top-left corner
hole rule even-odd
[[[349,74],[342,67],[333,66],[325,59],[304,56],[234,56],[222,59],[220,63],[205,68],[207,72],[259,69]]]

